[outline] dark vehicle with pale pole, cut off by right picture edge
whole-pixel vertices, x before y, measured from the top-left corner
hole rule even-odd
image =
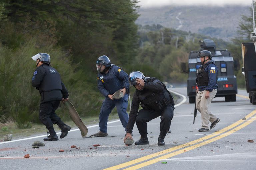
[[[253,1],[252,1],[253,2]],[[251,40],[253,42],[242,43],[243,68],[242,74],[245,76],[246,91],[249,93],[250,102],[256,105],[256,29],[254,22],[254,2],[252,3],[253,32]]]

